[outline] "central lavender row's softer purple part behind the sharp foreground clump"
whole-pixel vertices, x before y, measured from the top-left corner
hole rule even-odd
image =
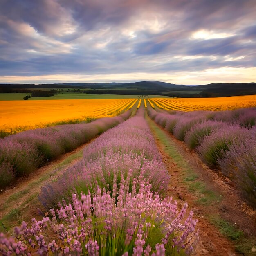
[[[139,188],[140,180],[146,178],[155,192],[164,194],[168,171],[140,112],[92,141],[84,149],[82,160],[68,168],[58,181],[43,187],[40,201],[44,207],[55,208],[63,197],[71,198],[74,189],[79,194],[94,193],[98,185],[112,195],[114,187],[119,187],[121,176],[126,180],[129,177],[129,191],[135,179]]]

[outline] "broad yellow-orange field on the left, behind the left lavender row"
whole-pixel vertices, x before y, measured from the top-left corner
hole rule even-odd
[[[76,99],[0,101],[0,130],[14,132],[56,122],[112,117],[129,109],[137,99]]]

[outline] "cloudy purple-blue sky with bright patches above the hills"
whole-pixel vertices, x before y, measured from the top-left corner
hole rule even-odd
[[[0,83],[256,82],[256,0],[0,0]]]

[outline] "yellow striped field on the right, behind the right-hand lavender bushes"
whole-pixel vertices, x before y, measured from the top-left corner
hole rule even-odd
[[[234,110],[236,108],[256,107],[256,95],[219,97],[219,98],[153,98],[148,100],[164,110]]]

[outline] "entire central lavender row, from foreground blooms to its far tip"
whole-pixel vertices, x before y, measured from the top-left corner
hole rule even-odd
[[[163,197],[170,179],[144,111],[95,139],[83,160],[42,189],[51,218],[0,234],[2,252],[58,255],[187,255],[197,220]],[[63,199],[62,199],[63,198]],[[62,199],[62,201],[60,201]],[[186,218],[185,218],[186,215]],[[51,236],[48,236],[51,234]],[[17,240],[18,238],[18,240]],[[53,240],[54,239],[54,240]]]

